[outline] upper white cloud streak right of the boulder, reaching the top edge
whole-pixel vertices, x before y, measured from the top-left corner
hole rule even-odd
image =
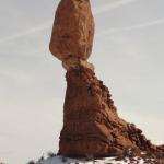
[[[101,14],[103,12],[115,10],[117,8],[120,8],[120,7],[125,5],[125,4],[131,3],[133,1],[137,1],[137,0],[121,0],[121,1],[117,1],[115,3],[109,3],[108,2],[107,4],[105,3],[102,7],[94,8],[93,13],[94,14]]]

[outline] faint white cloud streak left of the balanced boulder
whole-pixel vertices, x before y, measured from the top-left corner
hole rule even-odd
[[[24,36],[32,35],[32,34],[37,33],[37,32],[45,31],[45,30],[49,28],[50,26],[51,26],[51,21],[48,21],[48,22],[46,22],[46,23],[44,23],[42,25],[34,26],[34,27],[32,27],[30,30],[20,32],[17,34],[3,37],[3,38],[0,39],[0,44],[8,43],[8,42],[11,42],[11,40],[24,37]]]

